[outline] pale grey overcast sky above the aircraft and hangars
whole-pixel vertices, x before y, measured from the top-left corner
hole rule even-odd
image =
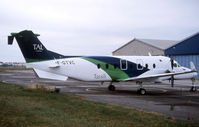
[[[0,61],[24,61],[7,35],[39,33],[64,55],[110,55],[136,38],[182,40],[199,32],[198,0],[1,0]]]

